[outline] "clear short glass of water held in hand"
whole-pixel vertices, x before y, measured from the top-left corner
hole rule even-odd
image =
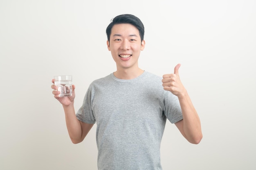
[[[54,85],[58,86],[58,91],[61,92],[58,96],[72,96],[72,76],[54,76]]]

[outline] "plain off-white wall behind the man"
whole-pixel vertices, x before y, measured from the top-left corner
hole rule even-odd
[[[255,170],[254,0],[0,0],[0,169],[97,169],[96,126],[72,144],[50,86],[72,74],[77,111],[116,69],[105,31],[124,13],[145,26],[140,68],[162,76],[181,63],[202,122],[198,145],[167,122],[164,170]]]

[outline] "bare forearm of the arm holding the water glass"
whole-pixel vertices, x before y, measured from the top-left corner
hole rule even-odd
[[[76,118],[75,110],[74,110],[74,103],[65,106],[63,105],[63,109],[65,112],[65,119],[67,125],[67,131],[70,136],[71,141],[74,144],[83,141],[82,138],[82,128],[79,120]]]

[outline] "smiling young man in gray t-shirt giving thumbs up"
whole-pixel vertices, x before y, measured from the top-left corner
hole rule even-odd
[[[70,138],[74,144],[82,142],[96,122],[99,170],[161,170],[166,119],[189,142],[198,144],[202,139],[200,119],[180,81],[180,64],[163,78],[139,68],[144,26],[134,15],[115,17],[106,33],[117,70],[90,84],[77,113],[74,90],[70,97],[58,97],[52,85],[54,97],[63,105]]]

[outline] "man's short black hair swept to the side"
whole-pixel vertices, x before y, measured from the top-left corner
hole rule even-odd
[[[144,40],[144,25],[141,20],[135,15],[122,14],[113,18],[112,22],[108,25],[106,29],[108,41],[110,41],[111,30],[115,24],[132,24],[139,30],[139,36],[141,38],[141,41]]]

